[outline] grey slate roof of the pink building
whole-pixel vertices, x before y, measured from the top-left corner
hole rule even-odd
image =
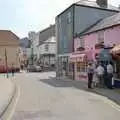
[[[115,15],[112,15],[103,20],[100,20],[97,24],[95,24],[93,27],[91,27],[89,30],[87,30],[83,34],[96,32],[102,29],[115,26],[115,25],[119,25],[119,24],[120,24],[120,13],[116,13]]]

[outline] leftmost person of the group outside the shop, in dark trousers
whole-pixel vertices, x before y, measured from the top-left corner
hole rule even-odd
[[[92,88],[92,80],[94,74],[94,68],[92,66],[92,63],[89,63],[87,73],[88,73],[88,88]]]

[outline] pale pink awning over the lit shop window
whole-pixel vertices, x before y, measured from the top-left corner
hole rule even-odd
[[[86,60],[87,60],[86,54],[73,53],[70,55],[70,58],[69,58],[69,61],[71,62],[84,62]]]

